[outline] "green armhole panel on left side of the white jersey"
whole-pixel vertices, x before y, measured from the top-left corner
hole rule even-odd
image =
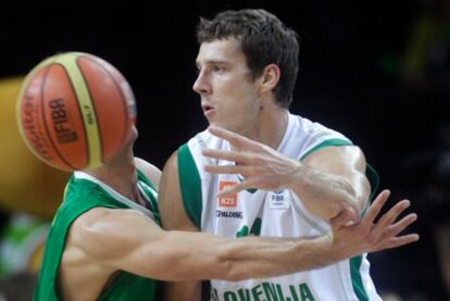
[[[201,180],[192,153],[187,145],[183,145],[178,149],[178,177],[185,211],[190,221],[200,229],[203,210]]]

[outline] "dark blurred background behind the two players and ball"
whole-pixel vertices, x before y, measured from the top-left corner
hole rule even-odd
[[[136,154],[158,167],[207,126],[196,76],[199,16],[263,8],[300,37],[291,112],[347,135],[409,198],[417,243],[370,254],[385,300],[450,300],[450,1],[188,1],[14,4],[0,17],[0,300],[30,300],[67,174],[38,162],[15,127],[23,76],[61,51],[115,65],[138,105]],[[363,2],[363,3],[362,3]]]

